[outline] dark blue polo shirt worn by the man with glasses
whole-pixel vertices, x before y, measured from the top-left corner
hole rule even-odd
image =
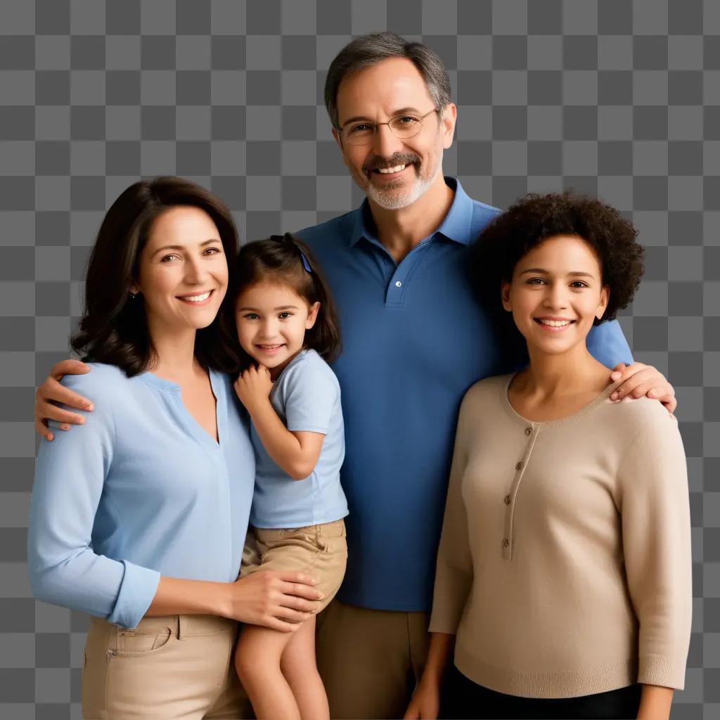
[[[446,178],[454,201],[440,227],[400,263],[377,239],[367,201],[299,235],[328,278],[343,333],[341,387],[350,514],[338,598],[364,608],[429,611],[457,413],[478,379],[508,357],[465,268],[469,245],[500,212]],[[608,367],[631,362],[618,323],[588,337]]]

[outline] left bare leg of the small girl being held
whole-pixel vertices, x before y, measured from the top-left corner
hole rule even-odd
[[[235,648],[235,670],[253,703],[258,720],[301,720],[290,685],[280,670],[280,658],[297,633],[248,625]],[[313,639],[314,641],[314,639]]]

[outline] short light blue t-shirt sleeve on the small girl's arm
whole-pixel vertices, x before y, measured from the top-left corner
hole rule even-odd
[[[310,360],[292,370],[284,398],[287,429],[327,435],[333,413],[340,407],[340,388],[332,370]]]

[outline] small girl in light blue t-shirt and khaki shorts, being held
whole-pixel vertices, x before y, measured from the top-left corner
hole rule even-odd
[[[343,415],[327,363],[340,346],[336,314],[310,251],[292,235],[248,243],[234,275],[235,325],[248,355],[235,391],[250,414],[256,453],[241,575],[302,570],[318,581],[320,611],[340,587],[347,559]],[[291,634],[246,626],[235,667],[258,718],[329,719],[314,617]]]

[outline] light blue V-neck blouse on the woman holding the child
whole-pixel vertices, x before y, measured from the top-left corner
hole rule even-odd
[[[40,600],[134,628],[161,575],[238,577],[253,449],[229,377],[210,372],[218,444],[185,408],[177,384],[91,368],[63,379],[94,402],[86,424],[40,444],[30,585]]]

